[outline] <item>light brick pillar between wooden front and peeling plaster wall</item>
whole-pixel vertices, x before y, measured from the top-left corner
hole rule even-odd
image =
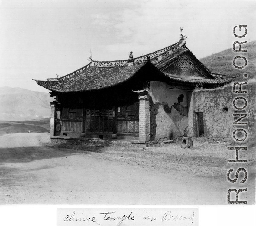
[[[150,127],[150,115],[149,115],[149,95],[140,95],[140,121],[139,131],[140,140],[149,141],[149,127]]]

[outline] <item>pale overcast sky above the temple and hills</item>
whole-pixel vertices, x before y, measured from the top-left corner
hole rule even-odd
[[[256,40],[256,1],[0,1],[0,86],[49,92],[32,79],[93,60],[138,57],[179,40],[197,58]],[[245,38],[233,27],[247,25]],[[244,34],[243,31],[237,34]],[[249,51],[249,50],[247,50]],[[234,53],[235,54],[235,53]],[[235,55],[234,55],[235,57]]]

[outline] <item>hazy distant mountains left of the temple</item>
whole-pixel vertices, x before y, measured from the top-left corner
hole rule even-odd
[[[50,92],[50,91],[49,91]],[[49,93],[0,87],[0,120],[17,121],[50,117]]]

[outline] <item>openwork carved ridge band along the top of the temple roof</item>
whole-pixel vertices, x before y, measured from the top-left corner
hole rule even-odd
[[[161,56],[162,54],[171,54],[173,52],[175,52],[176,50],[178,50],[179,47],[179,42],[168,46],[164,49],[155,51],[153,53],[149,53],[147,55],[144,56],[140,56],[137,58],[133,58],[134,63],[133,64],[137,64],[137,63],[142,63],[142,62],[146,62],[148,57],[149,60],[151,60],[152,63],[154,63],[154,58],[157,59],[157,57]],[[162,58],[161,58],[162,59]],[[115,60],[115,61],[93,61],[93,66],[96,67],[120,67],[120,66],[128,66],[128,60]]]

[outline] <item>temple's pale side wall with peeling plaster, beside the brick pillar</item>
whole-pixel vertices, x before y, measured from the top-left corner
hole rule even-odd
[[[164,82],[150,82],[150,140],[184,136],[187,115],[186,90],[168,89]]]

